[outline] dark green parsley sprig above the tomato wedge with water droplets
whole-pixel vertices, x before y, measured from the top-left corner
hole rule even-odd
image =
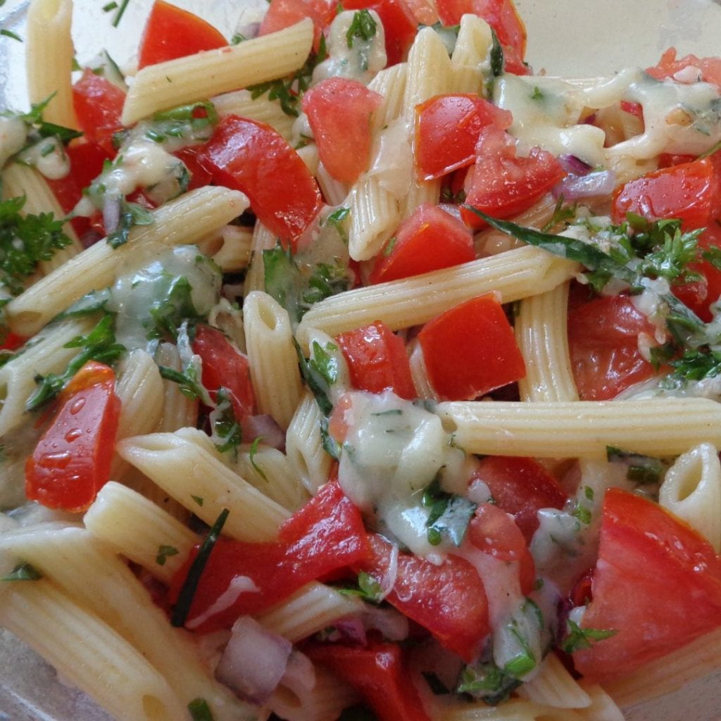
[[[88,361],[98,361],[106,366],[117,361],[125,352],[125,346],[115,342],[113,324],[113,316],[106,314],[88,335],[78,335],[68,341],[63,348],[80,348],[80,352],[68,363],[63,373],[35,376],[37,389],[27,399],[26,410],[35,410],[55,398]]]

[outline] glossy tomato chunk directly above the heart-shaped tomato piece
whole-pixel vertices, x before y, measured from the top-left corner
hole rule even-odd
[[[508,110],[473,94],[435,95],[415,107],[415,167],[433,180],[470,165],[482,128],[502,131],[513,122]]]

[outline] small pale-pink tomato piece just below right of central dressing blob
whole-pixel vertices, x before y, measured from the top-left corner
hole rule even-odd
[[[472,546],[499,561],[518,563],[521,593],[531,593],[536,583],[536,565],[521,529],[505,510],[480,503],[468,524],[466,536]]]

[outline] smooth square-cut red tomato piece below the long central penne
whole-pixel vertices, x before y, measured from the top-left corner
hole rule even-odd
[[[446,400],[472,400],[526,375],[513,328],[492,295],[429,321],[418,340],[428,380]]]

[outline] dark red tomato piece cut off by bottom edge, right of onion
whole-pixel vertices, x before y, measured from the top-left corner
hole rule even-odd
[[[311,643],[303,651],[356,689],[379,721],[430,721],[396,644]]]

